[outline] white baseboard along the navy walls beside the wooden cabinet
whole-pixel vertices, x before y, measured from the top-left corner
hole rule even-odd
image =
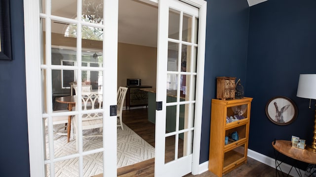
[[[258,153],[256,151],[253,151],[251,149],[248,149],[248,157],[257,160],[263,164],[269,165],[270,167],[276,168],[276,161],[274,158],[268,157],[266,155],[263,155],[261,153]],[[280,168],[282,169],[282,172],[284,173],[288,173],[291,169],[291,165],[288,165],[286,163],[282,163],[280,165]],[[208,170],[208,161],[199,164],[198,166],[198,174],[204,173]],[[301,174],[304,175],[305,170],[300,170]],[[297,172],[295,171],[294,167],[291,170],[290,175],[292,177],[299,177],[299,175],[297,174]]]

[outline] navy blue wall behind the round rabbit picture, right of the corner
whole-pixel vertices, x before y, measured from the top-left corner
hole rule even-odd
[[[249,147],[274,158],[271,142],[291,135],[311,143],[315,102],[296,97],[299,74],[316,73],[316,0],[268,0],[250,7],[246,94],[251,107]],[[298,107],[296,120],[271,122],[265,106],[286,96]]]

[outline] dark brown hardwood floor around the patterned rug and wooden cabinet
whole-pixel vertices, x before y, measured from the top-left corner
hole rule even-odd
[[[123,122],[155,147],[155,124],[147,120],[147,109],[123,111]],[[170,144],[166,142],[166,144]],[[173,153],[170,153],[173,154]],[[168,158],[166,156],[166,158]],[[118,168],[118,177],[154,177],[155,159],[149,159],[134,165]],[[247,163],[239,166],[223,177],[275,177],[276,170],[248,157]],[[286,175],[285,175],[286,176]],[[98,176],[99,177],[99,176]],[[216,177],[207,171],[200,175],[188,174],[185,177]],[[290,176],[289,176],[290,177]]]

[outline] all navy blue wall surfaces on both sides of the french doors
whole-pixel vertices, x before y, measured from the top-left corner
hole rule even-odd
[[[5,142],[0,148],[0,174],[25,177],[29,176],[29,153],[23,0],[11,1],[13,60],[0,61],[0,133]],[[217,76],[240,78],[245,96],[254,98],[250,149],[273,157],[274,138],[297,135],[310,143],[315,102],[310,110],[308,100],[295,95],[299,74],[316,73],[315,22],[315,0],[268,0],[252,6],[250,15],[246,0],[207,0],[200,163],[208,160],[211,99],[216,95]],[[290,125],[273,124],[265,116],[266,102],[277,95],[291,98],[298,106],[298,118]]]

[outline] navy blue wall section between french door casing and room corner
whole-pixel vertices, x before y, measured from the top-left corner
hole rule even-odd
[[[207,0],[206,20],[200,163],[208,161],[211,99],[216,98],[216,77],[240,78],[246,90],[247,0]]]

